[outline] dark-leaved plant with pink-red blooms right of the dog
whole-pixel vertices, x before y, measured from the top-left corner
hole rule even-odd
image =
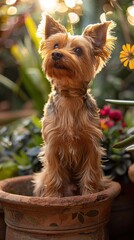
[[[127,114],[127,112],[126,112]],[[110,105],[104,106],[100,110],[101,127],[104,133],[103,146],[106,149],[106,156],[103,159],[104,173],[113,179],[127,182],[128,169],[134,162],[132,152],[123,148],[115,148],[119,143],[131,139],[133,128],[128,127],[125,115],[119,109],[113,109]]]

